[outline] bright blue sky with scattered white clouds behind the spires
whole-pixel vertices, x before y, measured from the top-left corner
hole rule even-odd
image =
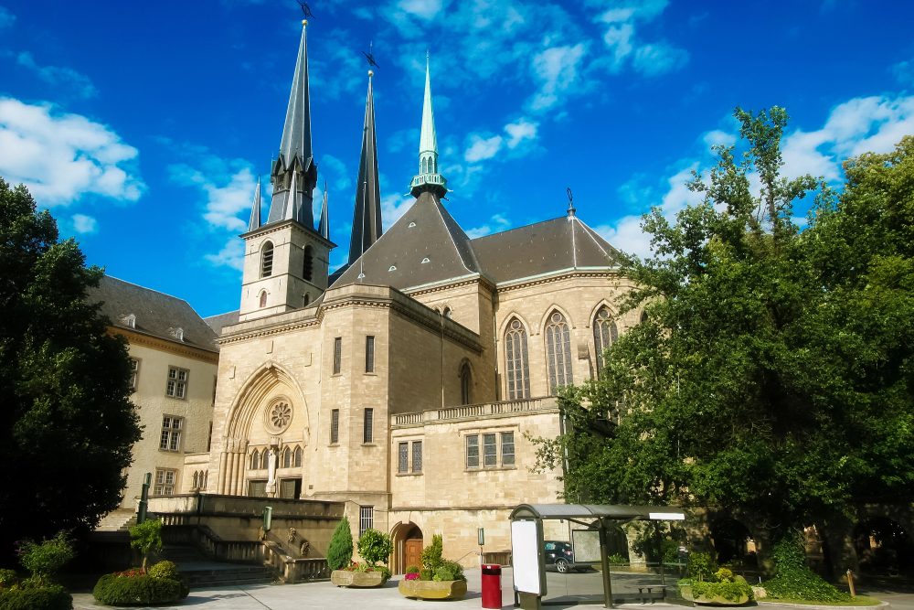
[[[373,41],[384,226],[412,198],[425,51],[447,203],[471,236],[581,219],[645,254],[735,106],[785,106],[789,174],[914,134],[914,4],[312,0],[314,154],[345,262]],[[0,0],[0,176],[108,273],[236,309],[242,232],[279,148],[293,0]],[[320,200],[316,193],[315,200]]]

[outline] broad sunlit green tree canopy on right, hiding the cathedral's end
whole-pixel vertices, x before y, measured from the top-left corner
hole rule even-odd
[[[741,142],[645,217],[653,258],[620,304],[646,317],[539,439],[566,498],[742,511],[775,537],[914,498],[914,138],[845,163],[838,192],[781,171],[787,113],[737,110]],[[794,206],[810,208],[801,230]]]

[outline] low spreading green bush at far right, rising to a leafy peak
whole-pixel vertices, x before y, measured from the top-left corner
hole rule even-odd
[[[798,599],[810,602],[847,602],[851,596],[826,583],[806,565],[804,538],[794,531],[774,545],[771,550],[775,576],[763,583],[770,597]]]

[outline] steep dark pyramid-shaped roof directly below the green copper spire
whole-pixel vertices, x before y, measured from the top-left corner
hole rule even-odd
[[[403,289],[479,271],[470,238],[441,201],[426,191],[334,285],[365,283]]]

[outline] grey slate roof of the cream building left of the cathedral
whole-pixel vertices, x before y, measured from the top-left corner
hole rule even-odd
[[[101,313],[108,316],[112,326],[218,352],[216,333],[182,299],[110,275],[101,278],[98,288],[90,289],[88,299],[93,303],[101,303]],[[136,316],[133,327],[128,326],[124,319],[131,314]],[[183,340],[176,336],[178,328],[184,331]]]

